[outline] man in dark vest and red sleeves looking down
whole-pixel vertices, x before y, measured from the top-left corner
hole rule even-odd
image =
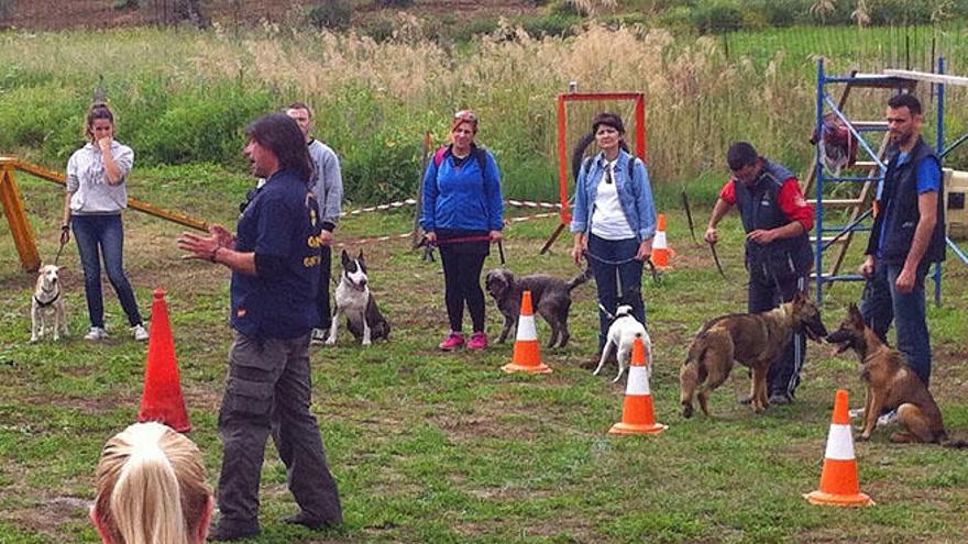
[[[719,241],[716,225],[736,204],[746,231],[746,268],[749,270],[747,311],[772,310],[806,289],[813,265],[807,233],[813,229],[813,207],[803,199],[796,176],[759,156],[749,142],[736,142],[726,152],[733,177],[723,186],[713,208],[706,242]],[[771,404],[789,404],[800,384],[806,338],[795,334],[767,376]]]

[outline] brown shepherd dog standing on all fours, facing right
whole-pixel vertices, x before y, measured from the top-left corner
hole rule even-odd
[[[690,344],[679,373],[682,415],[692,417],[692,397],[700,386],[700,408],[710,415],[710,393],[729,377],[734,360],[752,370],[750,404],[756,412],[765,410],[770,406],[767,400],[770,365],[800,330],[817,342],[827,335],[820,310],[802,292],[768,312],[732,313],[708,321]]]

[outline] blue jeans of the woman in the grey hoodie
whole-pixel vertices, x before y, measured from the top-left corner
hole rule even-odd
[[[134,291],[131,290],[131,284],[128,282],[122,266],[124,229],[121,225],[121,214],[74,215],[70,218],[70,224],[74,226],[74,240],[77,241],[80,264],[84,267],[84,295],[87,297],[87,313],[91,326],[102,329],[105,326],[101,255],[105,257],[108,279],[118,293],[118,300],[121,301],[121,308],[128,315],[128,322],[131,326],[140,325],[141,314],[138,312],[138,302],[134,300]]]

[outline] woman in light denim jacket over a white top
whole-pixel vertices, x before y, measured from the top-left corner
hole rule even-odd
[[[652,253],[656,208],[646,164],[623,147],[625,125],[615,113],[592,120],[592,133],[601,149],[585,160],[579,173],[571,231],[572,256],[581,264],[587,255],[595,274],[598,302],[614,314],[619,304],[632,308],[646,322],[642,302],[642,265]],[[609,318],[598,311],[598,352],[605,346]]]

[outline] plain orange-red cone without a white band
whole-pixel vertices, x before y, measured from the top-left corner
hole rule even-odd
[[[155,289],[152,303],[151,336],[147,342],[147,362],[144,368],[144,392],[138,421],[157,421],[179,433],[191,430],[185,399],[182,397],[178,360],[175,358],[175,341],[168,322],[165,291]]]

